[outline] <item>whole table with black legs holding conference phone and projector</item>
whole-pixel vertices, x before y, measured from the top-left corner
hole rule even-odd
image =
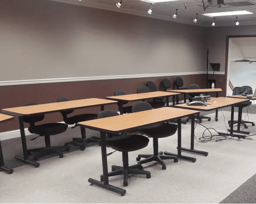
[[[183,104],[175,105],[175,107],[191,109],[191,110],[197,110],[197,111],[213,111],[213,110],[217,110],[219,108],[231,106],[230,134],[222,133],[222,132],[219,132],[219,134],[242,138],[242,137],[244,137],[243,135],[233,134],[234,105],[237,105],[239,103],[243,103],[243,102],[248,101],[248,100],[249,99],[218,97],[218,98],[211,98],[211,100],[208,100],[208,102],[210,102],[212,104],[209,104],[207,106],[187,105],[186,103],[183,103]],[[192,146],[192,144],[191,144],[191,148],[190,149],[193,150],[194,149],[194,145]],[[185,149],[183,149],[183,150],[184,151],[188,151],[188,150],[185,150]]]

